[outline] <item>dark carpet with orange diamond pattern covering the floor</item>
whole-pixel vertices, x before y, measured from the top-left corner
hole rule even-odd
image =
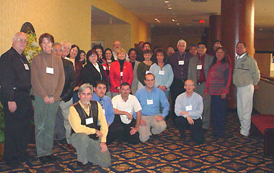
[[[274,172],[273,157],[264,156],[263,138],[241,139],[234,137],[239,131],[236,113],[229,112],[226,139],[214,139],[212,127],[206,133],[206,142],[197,145],[187,137],[179,139],[179,131],[167,121],[168,128],[158,139],[144,144],[117,144],[109,146],[112,165],[100,168],[90,165],[90,172]],[[36,147],[29,145],[30,155],[36,161],[25,163],[23,168],[11,170],[0,162],[0,172],[82,172],[76,168],[76,153],[55,144],[53,153],[59,163],[42,165],[37,160]]]

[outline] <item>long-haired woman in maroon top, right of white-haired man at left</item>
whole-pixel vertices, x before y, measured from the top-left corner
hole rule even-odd
[[[69,60],[73,62],[73,67],[75,70],[75,77],[76,77],[76,83],[75,83],[75,88],[73,92],[73,103],[76,103],[77,101],[79,101],[77,92],[78,92],[79,86],[83,84],[83,81],[81,78],[83,66],[82,66],[82,62],[80,62],[79,51],[80,51],[79,46],[73,44],[71,46],[71,50],[69,51],[69,55],[68,55]]]

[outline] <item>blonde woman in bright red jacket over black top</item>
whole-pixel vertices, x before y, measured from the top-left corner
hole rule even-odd
[[[133,70],[132,64],[125,60],[125,50],[117,52],[118,61],[112,62],[110,68],[110,92],[112,97],[120,94],[120,85],[123,82],[132,85]]]

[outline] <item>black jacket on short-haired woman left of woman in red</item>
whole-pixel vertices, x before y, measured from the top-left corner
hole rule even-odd
[[[84,83],[90,83],[90,85],[94,85],[97,81],[105,81],[105,83],[108,83],[107,77],[105,77],[105,70],[103,70],[103,66],[100,64],[99,69],[101,75],[91,63],[86,64],[82,70],[82,79]]]

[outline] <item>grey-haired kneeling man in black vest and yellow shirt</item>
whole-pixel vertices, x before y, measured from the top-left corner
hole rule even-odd
[[[88,170],[88,161],[107,168],[110,152],[105,144],[108,124],[97,101],[90,101],[92,85],[85,83],[78,90],[79,102],[69,109],[71,144],[77,151],[77,167]],[[99,122],[99,123],[97,123]]]

